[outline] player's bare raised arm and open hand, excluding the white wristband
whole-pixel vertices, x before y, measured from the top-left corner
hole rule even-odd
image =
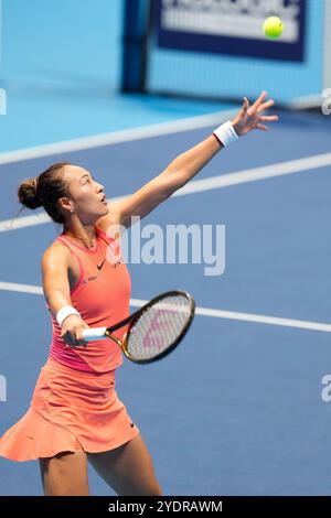
[[[244,98],[241,110],[232,120],[232,126],[238,137],[254,129],[266,131],[268,128],[264,122],[278,120],[276,115],[263,115],[267,108],[275,104],[273,99],[265,101],[267,93],[263,91],[252,106],[249,106],[247,98]],[[153,208],[192,180],[222,149],[222,142],[212,134],[178,155],[164,171],[141,188],[121,201],[111,203],[109,206],[110,215],[102,218],[103,225],[106,226],[116,222],[129,227],[132,216],[139,216],[140,218],[147,216]]]

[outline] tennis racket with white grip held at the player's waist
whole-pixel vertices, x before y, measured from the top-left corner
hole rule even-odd
[[[180,344],[192,324],[194,312],[195,302],[190,293],[167,291],[110,327],[83,330],[83,338],[86,342],[110,338],[131,361],[149,364],[163,358]],[[127,324],[121,341],[111,334]]]

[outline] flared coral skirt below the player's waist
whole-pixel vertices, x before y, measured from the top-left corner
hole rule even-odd
[[[28,412],[0,439],[12,461],[114,450],[139,434],[115,390],[115,370],[90,374],[52,359],[42,367]]]

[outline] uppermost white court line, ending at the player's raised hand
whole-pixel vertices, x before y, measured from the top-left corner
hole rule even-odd
[[[196,117],[188,117],[185,119],[110,131],[108,133],[83,137],[81,139],[65,140],[53,144],[8,151],[0,153],[0,164],[22,162],[24,160],[40,159],[42,157],[52,157],[58,153],[71,153],[73,151],[100,148],[102,145],[131,142],[134,140],[148,139],[162,134],[181,133],[183,131],[207,128],[209,126],[221,125],[224,120],[233,117],[237,111],[237,109],[216,111]]]

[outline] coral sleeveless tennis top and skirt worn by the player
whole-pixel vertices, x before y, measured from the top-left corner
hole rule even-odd
[[[90,327],[110,326],[129,314],[130,277],[118,242],[99,228],[87,250],[61,235],[79,263],[72,305]],[[49,305],[47,309],[50,310]],[[98,453],[139,434],[115,390],[115,371],[122,363],[110,341],[71,348],[52,316],[50,356],[42,367],[28,412],[0,439],[0,455],[12,461],[52,457],[84,450]],[[115,332],[121,338],[125,328]]]

